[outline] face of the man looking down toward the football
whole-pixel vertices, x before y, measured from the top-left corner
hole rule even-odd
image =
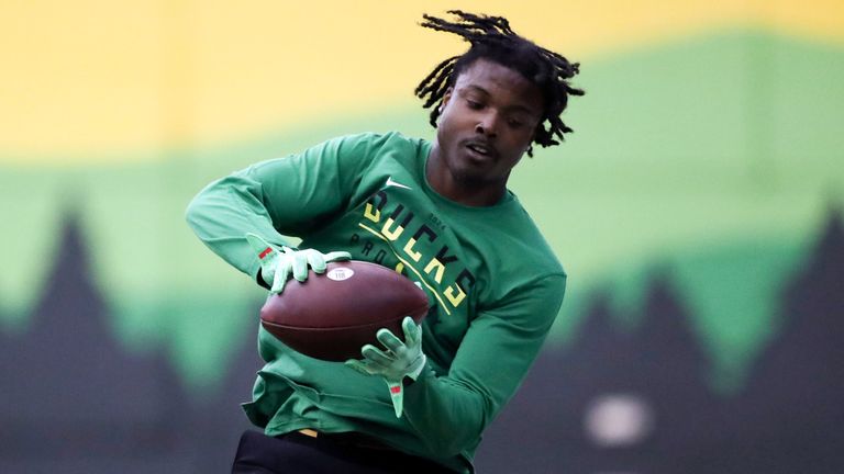
[[[443,98],[440,171],[456,185],[503,192],[510,170],[533,142],[542,111],[538,87],[498,63],[476,60]]]

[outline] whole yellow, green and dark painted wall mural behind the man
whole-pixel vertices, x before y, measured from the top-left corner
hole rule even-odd
[[[511,181],[569,289],[479,471],[841,472],[844,7],[464,3],[587,90]],[[430,137],[412,89],[464,45],[415,23],[448,8],[0,5],[0,472],[226,472],[263,292],[185,206],[340,134]]]

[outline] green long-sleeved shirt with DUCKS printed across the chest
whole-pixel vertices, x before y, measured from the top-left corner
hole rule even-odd
[[[188,222],[214,252],[255,278],[252,232],[300,248],[346,250],[402,272],[427,290],[427,364],[407,385],[396,418],[386,383],[343,363],[300,354],[263,328],[249,419],[275,436],[302,428],[358,431],[401,451],[473,472],[481,432],[534,361],[565,291],[566,274],[508,191],[469,207],[425,179],[431,144],[400,134],[336,138],[211,183]],[[373,289],[378,291],[378,289]]]

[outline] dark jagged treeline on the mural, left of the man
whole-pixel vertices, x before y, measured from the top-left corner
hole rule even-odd
[[[75,213],[58,241],[29,330],[1,334],[0,472],[226,472],[260,368],[257,325],[230,341],[220,386],[192,387],[165,348],[119,342]]]

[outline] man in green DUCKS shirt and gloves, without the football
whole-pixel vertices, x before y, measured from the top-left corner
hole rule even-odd
[[[417,89],[433,143],[332,139],[215,181],[188,208],[214,252],[274,293],[354,258],[402,272],[432,303],[422,325],[379,331],[346,364],[260,329],[267,364],[244,408],[265,435],[244,435],[234,472],[473,472],[556,317],[566,274],[507,181],[533,144],[570,132],[559,115],[582,94],[568,83],[578,65],[503,18],[449,13],[422,23],[471,44]]]

